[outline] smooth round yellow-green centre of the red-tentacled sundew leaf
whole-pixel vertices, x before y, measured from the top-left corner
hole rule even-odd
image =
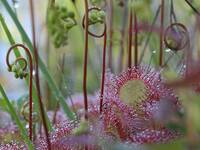
[[[148,89],[142,80],[130,80],[119,91],[120,99],[128,105],[134,106],[147,98]]]

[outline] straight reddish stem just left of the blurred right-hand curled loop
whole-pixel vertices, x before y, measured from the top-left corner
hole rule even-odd
[[[159,65],[160,67],[163,64],[163,30],[164,30],[164,0],[161,2],[161,15],[160,15],[160,23],[161,23],[161,30],[160,30],[160,56],[159,56]]]

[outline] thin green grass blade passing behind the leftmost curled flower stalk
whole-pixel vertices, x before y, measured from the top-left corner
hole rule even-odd
[[[14,38],[12,37],[12,35],[11,35],[11,33],[10,33],[10,31],[9,31],[5,21],[4,21],[4,18],[3,18],[3,16],[1,14],[0,14],[0,23],[2,24],[2,27],[3,27],[3,29],[4,29],[4,31],[6,33],[6,36],[7,36],[8,40],[9,40],[10,44],[11,45],[16,44],[16,42],[15,42]],[[14,49],[14,53],[15,53],[16,58],[21,57],[21,54],[20,54],[18,48]],[[21,63],[20,65],[23,66],[23,63]],[[27,83],[27,85],[29,84],[28,78],[26,78],[26,83]],[[35,104],[36,111],[38,112],[38,114],[40,114],[38,97],[37,97],[37,94],[36,94],[35,85],[33,87],[33,101],[34,101],[34,104]],[[49,118],[47,117],[46,112],[45,112],[45,118],[46,118],[46,121],[47,121],[48,130],[52,131],[52,125],[50,123]]]

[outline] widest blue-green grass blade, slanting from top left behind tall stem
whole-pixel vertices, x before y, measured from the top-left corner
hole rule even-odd
[[[10,7],[10,5],[8,4],[7,0],[1,0],[1,2],[3,3],[3,5],[6,8],[6,10],[10,14],[11,18],[13,19],[16,27],[18,28],[18,30],[19,30],[22,38],[23,38],[23,41],[27,44],[27,46],[29,47],[29,49],[33,53],[33,45],[31,43],[31,40],[29,39],[29,37],[26,34],[25,30],[23,29],[22,25],[20,24],[20,22],[19,22],[18,18],[16,17],[14,11]],[[64,96],[62,95],[61,91],[59,90],[59,88],[55,84],[55,82],[52,79],[52,77],[50,76],[45,64],[42,62],[40,57],[38,58],[38,62],[39,62],[39,67],[40,67],[40,69],[41,69],[41,71],[42,71],[42,73],[44,75],[44,78],[46,79],[51,91],[53,91],[52,95],[54,96],[55,99],[59,100],[61,106],[63,107],[64,112],[69,117],[69,119],[74,119],[73,112],[70,110],[69,106],[65,102]]]

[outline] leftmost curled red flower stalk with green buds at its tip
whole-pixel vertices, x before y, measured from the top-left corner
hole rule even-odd
[[[13,64],[10,63],[10,54],[13,50],[15,50],[15,48],[22,48],[24,49],[24,51],[27,53],[27,56],[29,58],[29,70],[30,70],[30,73],[29,73],[29,138],[30,140],[32,140],[32,111],[33,111],[33,108],[32,108],[32,104],[33,104],[33,100],[32,100],[32,87],[33,87],[33,84],[32,84],[32,80],[33,80],[33,61],[32,61],[32,56],[31,56],[31,53],[29,51],[29,49],[24,46],[23,44],[15,44],[13,46],[11,46],[7,52],[7,56],[6,56],[6,63],[7,63],[7,66],[8,66],[8,70],[10,72],[14,72],[15,73],[15,77],[18,78],[20,77],[21,79],[25,78],[27,76],[27,72],[26,72],[26,69],[27,69],[27,60],[22,58],[22,57],[19,57],[15,60],[15,62]],[[23,68],[19,67],[19,64],[20,61],[23,61],[24,63],[24,66]]]

